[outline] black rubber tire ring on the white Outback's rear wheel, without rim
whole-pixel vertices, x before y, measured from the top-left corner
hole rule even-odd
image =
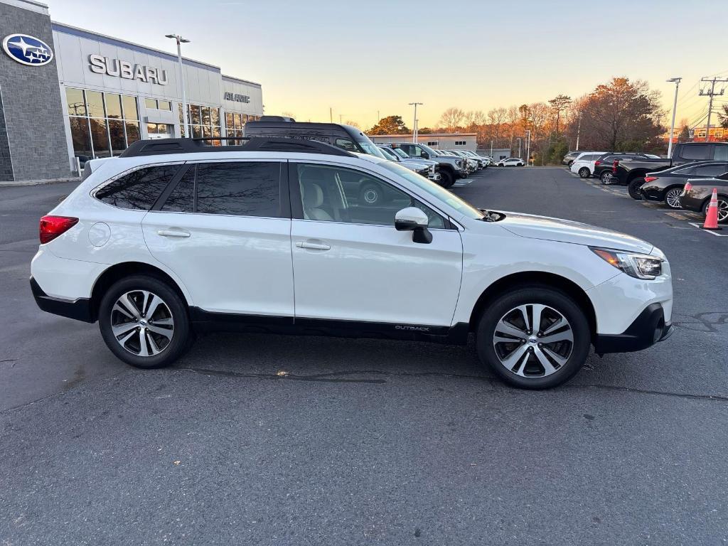
[[[173,335],[157,355],[140,356],[133,354],[130,350],[122,347],[112,331],[112,309],[116,301],[125,293],[133,293],[141,290],[146,290],[162,298],[167,308],[165,312],[168,311],[173,320]],[[151,316],[148,317],[149,323],[152,323],[151,319]],[[149,275],[133,275],[111,285],[111,288],[101,298],[98,310],[98,323],[103,341],[106,342],[106,347],[119,360],[136,368],[164,368],[181,357],[189,349],[191,341],[194,339],[194,336],[191,334],[187,307],[181,296],[170,285],[167,285],[167,282]],[[138,346],[138,341],[141,341],[141,336],[135,341],[137,341]],[[148,341],[145,342],[145,347],[146,349],[150,349],[151,345]]]

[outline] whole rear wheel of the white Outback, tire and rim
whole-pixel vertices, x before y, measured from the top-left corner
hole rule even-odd
[[[111,285],[101,299],[98,322],[111,352],[137,368],[170,365],[191,340],[181,296],[167,283],[147,275]]]

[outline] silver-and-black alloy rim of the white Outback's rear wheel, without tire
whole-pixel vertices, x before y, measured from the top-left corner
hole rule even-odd
[[[159,355],[170,346],[174,330],[170,307],[149,290],[130,290],[111,308],[111,333],[132,355]]]

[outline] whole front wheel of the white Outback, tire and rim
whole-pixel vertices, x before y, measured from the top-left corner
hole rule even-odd
[[[591,343],[587,317],[555,288],[533,285],[499,296],[476,333],[480,361],[508,384],[547,389],[571,379]]]

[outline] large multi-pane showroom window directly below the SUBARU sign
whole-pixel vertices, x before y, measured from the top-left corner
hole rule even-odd
[[[136,97],[66,87],[74,156],[118,156],[141,138]]]

